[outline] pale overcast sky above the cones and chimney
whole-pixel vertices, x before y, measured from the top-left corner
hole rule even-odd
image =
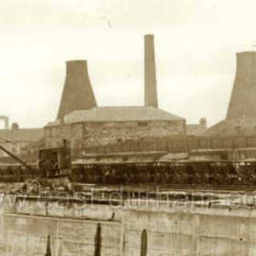
[[[198,123],[226,115],[236,52],[256,44],[254,0],[1,0],[0,114],[54,121],[65,61],[87,59],[98,104],[144,104],[144,35],[155,34],[159,107]]]

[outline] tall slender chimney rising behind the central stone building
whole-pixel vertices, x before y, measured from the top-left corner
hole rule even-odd
[[[154,35],[144,36],[144,105],[158,107]]]

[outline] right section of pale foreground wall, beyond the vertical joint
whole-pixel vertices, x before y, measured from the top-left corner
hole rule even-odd
[[[246,207],[182,204],[140,208],[125,215],[125,254],[147,256],[249,256],[256,254],[256,211]]]

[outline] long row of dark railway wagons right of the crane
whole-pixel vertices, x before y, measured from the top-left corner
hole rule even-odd
[[[256,185],[256,162],[174,161],[72,165],[73,178],[92,184]]]

